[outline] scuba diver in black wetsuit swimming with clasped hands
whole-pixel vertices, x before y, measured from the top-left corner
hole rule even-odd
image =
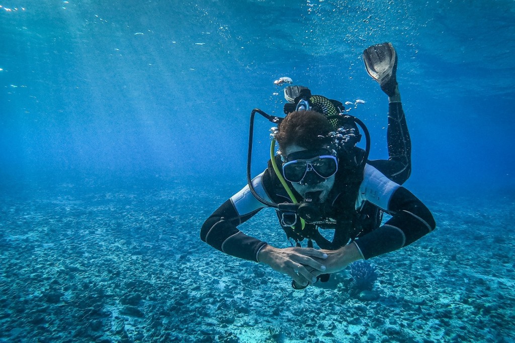
[[[237,258],[265,263],[291,277],[295,289],[303,289],[329,280],[330,273],[354,261],[400,249],[435,229],[431,212],[402,186],[411,172],[411,143],[396,80],[397,53],[391,43],[382,43],[368,47],[363,59],[389,99],[388,160],[368,160],[368,130],[346,114],[341,102],[288,86],[286,117],[252,111],[248,184],[205,220],[202,241]],[[255,113],[278,127],[272,128],[268,167],[251,179]],[[356,146],[363,136],[358,126],[365,149]],[[292,247],[273,247],[237,228],[265,207],[276,209]],[[381,225],[384,212],[391,218]],[[325,238],[321,229],[334,230],[333,238]]]

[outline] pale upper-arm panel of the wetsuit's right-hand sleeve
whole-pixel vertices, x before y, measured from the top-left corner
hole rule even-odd
[[[390,198],[400,185],[368,164],[365,166],[364,174],[363,182],[359,187],[356,208],[361,207],[363,201],[368,200],[382,210],[388,210]]]

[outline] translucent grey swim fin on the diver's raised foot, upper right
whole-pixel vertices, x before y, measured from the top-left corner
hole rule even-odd
[[[363,52],[367,73],[379,82],[388,96],[395,95],[397,87],[397,53],[391,43],[385,42],[369,46]]]

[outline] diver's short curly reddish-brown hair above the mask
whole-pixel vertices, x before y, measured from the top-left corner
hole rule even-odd
[[[276,141],[281,151],[296,144],[306,149],[319,149],[323,142],[319,135],[327,136],[333,127],[327,118],[315,111],[295,111],[284,118],[279,125]]]

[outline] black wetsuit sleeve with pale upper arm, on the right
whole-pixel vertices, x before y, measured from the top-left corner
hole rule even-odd
[[[415,195],[367,165],[359,201],[369,201],[392,217],[355,240],[364,259],[403,248],[436,227],[433,215]]]

